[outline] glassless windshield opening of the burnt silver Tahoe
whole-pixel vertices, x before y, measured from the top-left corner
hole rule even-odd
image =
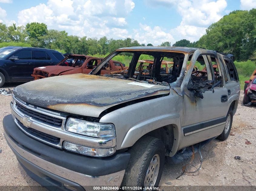
[[[112,59],[128,67],[103,76],[169,86],[179,77],[184,57],[185,54],[176,52],[116,51],[101,63]],[[92,74],[100,75],[102,65],[99,64]]]

